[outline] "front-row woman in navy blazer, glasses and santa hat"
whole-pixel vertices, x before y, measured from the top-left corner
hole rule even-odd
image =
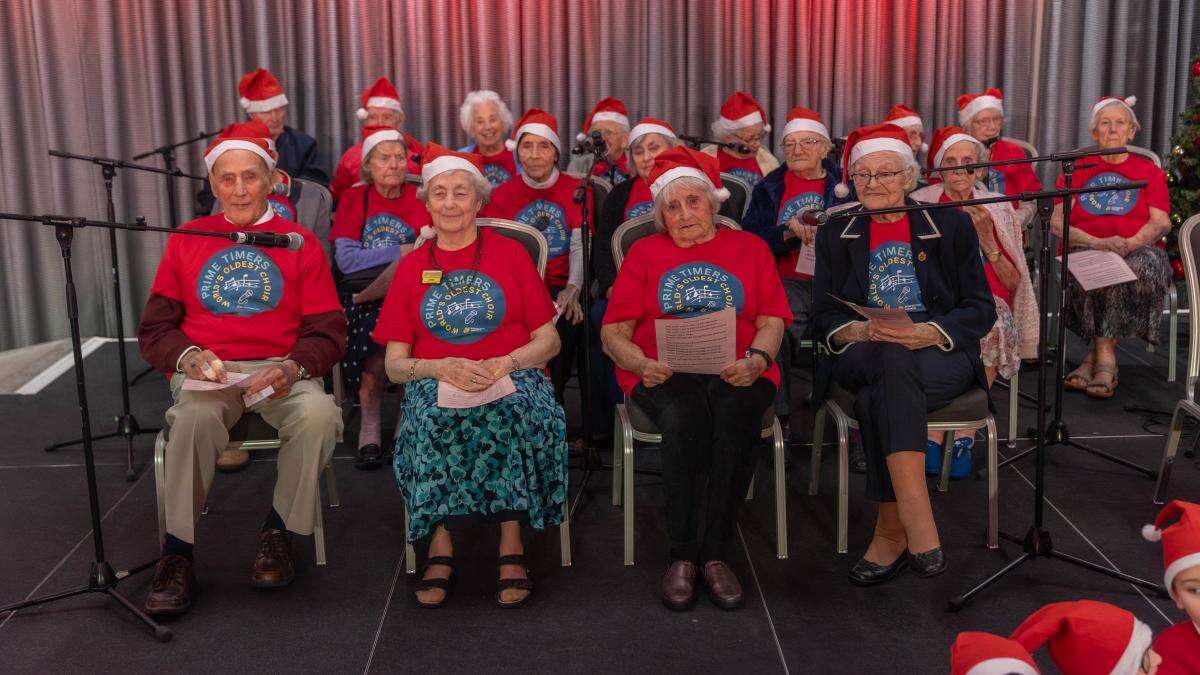
[[[914,203],[905,193],[919,169],[899,126],[851,133],[842,166],[862,202],[850,214]],[[817,232],[816,257],[814,325],[834,357],[818,365],[815,400],[830,380],[854,394],[866,496],[880,502],[875,534],[850,579],[881,584],[905,567],[941,574],[946,556],[925,485],[926,414],[972,387],[986,390],[979,340],[996,322],[974,227],[956,209],[839,219]],[[912,327],[862,321],[836,298],[904,309]]]

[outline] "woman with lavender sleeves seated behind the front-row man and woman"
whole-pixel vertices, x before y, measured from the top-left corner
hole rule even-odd
[[[391,126],[362,129],[361,184],[342,193],[329,240],[338,271],[338,297],[349,327],[342,374],[359,396],[359,449],[354,466],[378,468],[383,456],[379,411],[388,381],[383,351],[373,340],[382,300],[360,300],[366,288],[396,258],[413,250],[430,211],[416,198],[408,174],[408,145]]]

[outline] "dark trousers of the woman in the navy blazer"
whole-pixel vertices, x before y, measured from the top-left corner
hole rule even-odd
[[[854,418],[866,455],[866,498],[894,502],[892,453],[924,452],[926,414],[976,386],[966,353],[937,347],[911,351],[894,342],[856,342],[835,357],[833,378],[854,393]]]

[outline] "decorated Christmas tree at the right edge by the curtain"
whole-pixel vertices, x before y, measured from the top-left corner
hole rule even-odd
[[[1166,157],[1166,186],[1171,193],[1171,234],[1166,252],[1176,279],[1183,279],[1176,233],[1183,221],[1200,214],[1200,52],[1192,56],[1188,91],[1192,104],[1180,114],[1180,130],[1171,139],[1171,154]]]

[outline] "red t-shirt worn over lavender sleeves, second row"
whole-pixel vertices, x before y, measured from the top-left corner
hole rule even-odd
[[[415,185],[406,183],[394,199],[380,195],[373,185],[356,185],[342,193],[329,240],[354,239],[365,249],[398,246],[416,241],[421,228],[430,222],[430,210],[416,198]]]

